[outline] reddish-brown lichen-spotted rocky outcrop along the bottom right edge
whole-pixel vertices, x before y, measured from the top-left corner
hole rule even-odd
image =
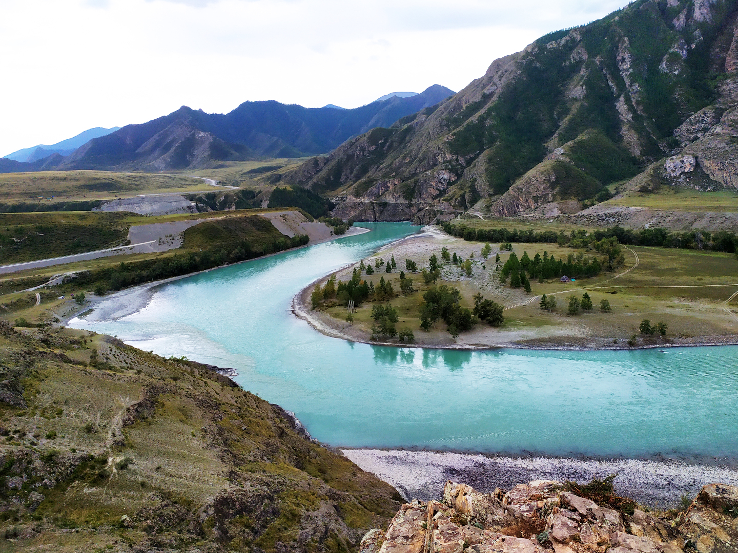
[[[682,512],[652,513],[610,496],[597,504],[576,484],[539,480],[482,494],[447,481],[443,501],[400,507],[361,553],[680,553],[738,551],[738,487],[703,487]]]

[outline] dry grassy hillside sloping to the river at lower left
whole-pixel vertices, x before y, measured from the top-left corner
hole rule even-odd
[[[3,551],[354,552],[399,506],[207,366],[4,323],[0,365]]]

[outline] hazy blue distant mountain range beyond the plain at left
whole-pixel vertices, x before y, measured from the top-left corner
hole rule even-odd
[[[162,171],[214,167],[222,161],[301,157],[327,153],[351,136],[392,125],[397,119],[454,94],[433,85],[411,97],[393,95],[354,109],[303,108],[274,100],[244,102],[228,114],[182,106],[142,125],[86,142],[69,156],[19,163],[0,159],[0,172],[26,170]]]

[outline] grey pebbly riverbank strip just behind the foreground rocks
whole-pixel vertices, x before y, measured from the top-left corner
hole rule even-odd
[[[720,459],[565,459],[486,456],[379,449],[343,449],[362,470],[376,474],[407,500],[441,499],[446,480],[466,482],[483,493],[531,480],[587,482],[617,474],[615,489],[651,507],[674,507],[704,484],[738,485],[738,466]]]

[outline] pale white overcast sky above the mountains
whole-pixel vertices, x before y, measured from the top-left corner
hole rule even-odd
[[[627,0],[1,0],[0,155],[181,105],[354,108],[438,83]]]

